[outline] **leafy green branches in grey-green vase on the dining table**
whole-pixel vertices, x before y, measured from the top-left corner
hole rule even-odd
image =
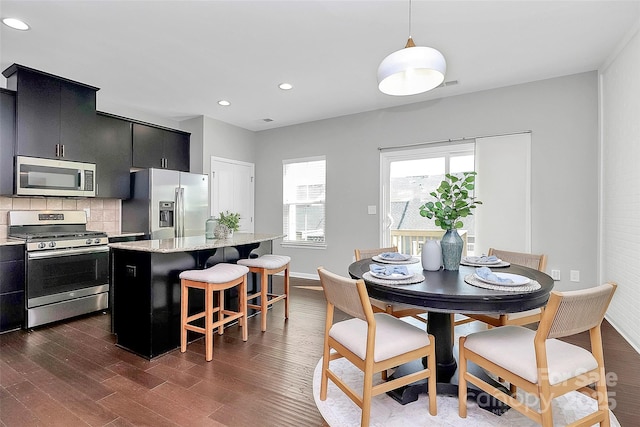
[[[462,256],[462,238],[456,229],[463,226],[461,218],[473,215],[482,202],[469,195],[475,188],[476,172],[463,172],[462,177],[446,174],[440,186],[429,193],[435,201],[420,206],[420,215],[435,218],[436,226],[445,230],[440,241],[446,270],[457,270]]]

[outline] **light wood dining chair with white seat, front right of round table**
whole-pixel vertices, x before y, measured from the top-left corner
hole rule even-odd
[[[553,426],[552,400],[577,390],[595,399],[598,409],[571,425],[600,423],[608,427],[600,325],[615,290],[616,284],[606,283],[578,291],[552,291],[537,331],[508,325],[460,337],[460,417],[467,416],[467,382],[470,382],[545,427]],[[589,331],[591,351],[557,339],[584,331]],[[469,373],[469,361],[536,396],[540,410]],[[595,384],[595,390],[589,387],[591,384]]]

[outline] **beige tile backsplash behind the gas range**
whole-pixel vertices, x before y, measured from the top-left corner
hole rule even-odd
[[[9,211],[87,210],[87,230],[120,233],[120,199],[69,199],[62,197],[0,197],[0,239],[7,237]]]

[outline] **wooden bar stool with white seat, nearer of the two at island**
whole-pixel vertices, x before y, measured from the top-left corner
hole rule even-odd
[[[247,273],[249,269],[242,265],[216,264],[204,270],[187,270],[180,273],[181,310],[180,310],[180,351],[187,351],[187,331],[204,334],[207,362],[213,359],[213,331],[224,332],[224,325],[239,319],[242,327],[242,341],[247,340]],[[238,286],[238,311],[224,308],[224,291]],[[202,289],[205,292],[204,311],[189,316],[189,288]],[[213,306],[213,294],[217,293],[218,305]],[[218,319],[214,322],[214,314]],[[204,327],[191,325],[194,320],[204,317]]]

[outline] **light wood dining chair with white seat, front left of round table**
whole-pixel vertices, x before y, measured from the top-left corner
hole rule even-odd
[[[433,335],[387,313],[373,313],[363,280],[353,280],[318,268],[327,299],[327,317],[322,353],[320,400],[327,399],[331,380],[362,410],[361,426],[368,426],[371,398],[415,381],[428,378],[429,390],[436,390],[435,340]],[[334,323],[335,309],[350,319]],[[331,370],[331,361],[346,358],[364,374],[362,392],[358,393]],[[427,367],[390,380],[387,370],[412,360],[427,358]],[[381,374],[385,382],[373,384]],[[437,414],[436,393],[429,393],[429,413]]]

